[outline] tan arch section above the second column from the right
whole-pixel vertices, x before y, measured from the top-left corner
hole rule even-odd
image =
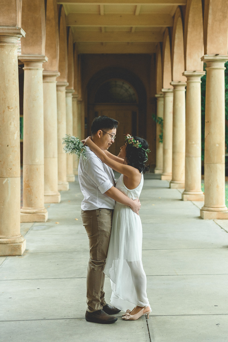
[[[196,34],[197,32],[197,34]],[[188,0],[184,27],[185,70],[203,70],[203,13],[199,0]]]

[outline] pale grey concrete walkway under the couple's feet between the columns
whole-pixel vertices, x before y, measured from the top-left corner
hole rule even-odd
[[[75,182],[48,222],[22,224],[24,255],[0,258],[0,341],[227,342],[228,222],[201,220],[200,203],[149,178],[140,197],[148,322],[85,321],[88,238]],[[108,278],[105,292],[109,302]]]

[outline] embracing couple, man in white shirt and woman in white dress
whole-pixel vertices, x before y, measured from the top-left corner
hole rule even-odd
[[[146,295],[142,265],[142,224],[139,195],[148,167],[148,143],[125,136],[118,156],[108,152],[119,122],[106,116],[94,119],[86,138],[86,159],[80,158],[79,183],[84,195],[81,217],[89,238],[87,310],[89,322],[110,324],[121,310],[124,320],[147,317],[151,307]],[[117,183],[113,170],[121,173]],[[109,305],[104,299],[104,278],[111,280]]]

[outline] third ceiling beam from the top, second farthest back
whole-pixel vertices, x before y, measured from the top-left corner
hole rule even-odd
[[[97,31],[74,31],[76,42],[160,42],[163,35],[149,31],[126,32],[97,32]]]

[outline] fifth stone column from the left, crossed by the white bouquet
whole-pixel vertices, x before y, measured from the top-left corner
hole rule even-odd
[[[73,108],[72,93],[74,89],[66,89],[66,122],[67,134],[73,135]],[[75,176],[73,171],[73,155],[67,153],[67,181],[74,182]]]

